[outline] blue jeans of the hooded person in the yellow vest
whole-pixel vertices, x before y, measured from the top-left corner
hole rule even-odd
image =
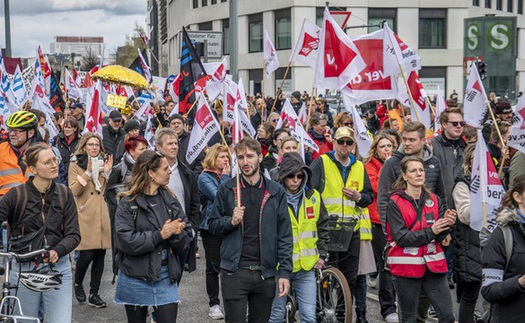
[[[279,283],[279,277],[275,276]],[[317,301],[317,285],[315,271],[298,271],[290,276],[290,284],[295,290],[299,305],[299,320],[301,323],[315,323],[315,303]],[[272,314],[268,323],[282,323],[285,316],[286,296],[279,297],[279,286],[275,290],[272,303]]]

